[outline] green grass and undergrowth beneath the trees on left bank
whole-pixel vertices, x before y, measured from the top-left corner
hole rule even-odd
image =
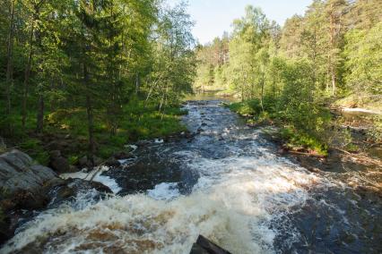
[[[19,112],[17,112],[19,113]],[[110,134],[108,119],[103,112],[94,111],[94,136],[97,143],[96,156],[108,158],[117,151],[128,151],[125,145],[137,140],[164,138],[169,135],[187,131],[179,121],[181,115],[187,114],[180,106],[169,106],[158,112],[155,105],[146,105],[135,99],[123,106],[122,113],[116,117],[117,132]],[[13,144],[28,153],[41,165],[48,165],[49,151],[40,138],[34,135],[36,112],[29,112],[25,131],[22,131],[21,115],[13,114]],[[70,135],[71,140],[80,145],[77,149],[66,152],[69,162],[74,165],[79,158],[87,154],[88,127],[84,108],[59,109],[48,112],[45,116],[44,134],[51,137]],[[9,119],[0,120],[0,131]],[[58,139],[58,138],[57,138]]]

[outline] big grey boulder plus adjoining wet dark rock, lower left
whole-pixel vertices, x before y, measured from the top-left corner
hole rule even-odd
[[[80,191],[111,192],[99,182],[63,180],[51,168],[35,164],[15,149],[0,155],[0,186],[0,244],[39,211],[74,199]]]

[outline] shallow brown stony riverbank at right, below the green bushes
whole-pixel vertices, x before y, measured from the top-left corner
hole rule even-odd
[[[331,146],[327,156],[322,157],[302,148],[287,148],[285,140],[282,140],[274,126],[261,128],[264,128],[265,139],[277,144],[281,157],[288,157],[313,173],[335,175],[362,196],[382,199],[382,157],[379,154],[381,146],[376,144],[373,149],[369,149],[366,135],[362,134],[364,131],[351,129],[352,142],[363,144],[363,147],[350,152],[342,146]],[[336,138],[342,139],[338,136]]]

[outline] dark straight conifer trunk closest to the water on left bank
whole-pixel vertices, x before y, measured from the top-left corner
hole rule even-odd
[[[83,68],[83,82],[85,85],[86,92],[86,114],[88,118],[88,134],[89,134],[89,160],[91,165],[94,165],[94,154],[95,154],[95,142],[94,142],[94,121],[93,112],[91,104],[91,85],[89,80],[89,71],[86,63],[82,63]]]

